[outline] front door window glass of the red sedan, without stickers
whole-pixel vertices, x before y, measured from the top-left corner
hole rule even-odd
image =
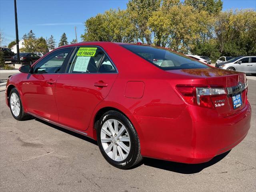
[[[34,74],[58,73],[72,48],[56,50],[43,58],[34,67]]]

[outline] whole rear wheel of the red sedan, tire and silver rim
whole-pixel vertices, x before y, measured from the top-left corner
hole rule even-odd
[[[142,160],[138,134],[130,120],[120,112],[103,114],[97,141],[104,158],[117,168],[128,169]]]

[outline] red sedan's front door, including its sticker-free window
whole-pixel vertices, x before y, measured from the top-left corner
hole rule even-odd
[[[28,112],[58,122],[55,86],[72,48],[56,50],[32,67],[22,81],[24,106]]]

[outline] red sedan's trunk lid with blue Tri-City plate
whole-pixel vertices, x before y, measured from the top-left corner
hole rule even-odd
[[[217,68],[169,70],[168,72],[184,75],[184,78],[186,79],[192,79],[192,81],[189,80],[187,82],[189,82],[188,84],[193,84],[193,86],[224,88],[226,90],[226,95],[210,96],[212,105],[222,117],[231,116],[242,110],[245,106],[247,80],[246,75],[242,72]],[[239,99],[242,103],[240,103]]]

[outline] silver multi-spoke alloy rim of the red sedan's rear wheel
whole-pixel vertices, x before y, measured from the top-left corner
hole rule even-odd
[[[115,161],[123,161],[130,152],[130,136],[126,127],[115,119],[109,119],[100,131],[102,147],[106,154]]]

